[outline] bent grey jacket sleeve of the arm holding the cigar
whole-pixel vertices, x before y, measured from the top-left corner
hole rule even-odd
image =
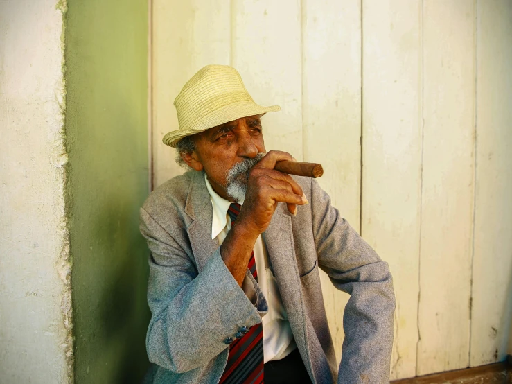
[[[261,322],[220,247],[198,273],[179,243],[144,209],[140,229],[151,251],[146,348],[152,363],[177,373],[207,365],[228,347],[224,340]]]

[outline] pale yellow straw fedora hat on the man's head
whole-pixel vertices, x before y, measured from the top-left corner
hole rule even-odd
[[[186,136],[240,117],[277,112],[279,105],[262,107],[245,89],[240,73],[227,65],[206,65],[188,80],[174,101],[179,129],[164,136],[175,147]]]

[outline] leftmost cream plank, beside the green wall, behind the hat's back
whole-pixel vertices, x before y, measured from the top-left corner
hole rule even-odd
[[[162,143],[178,129],[174,99],[185,82],[207,64],[229,64],[231,14],[221,0],[153,0],[153,185],[184,170],[176,151]]]

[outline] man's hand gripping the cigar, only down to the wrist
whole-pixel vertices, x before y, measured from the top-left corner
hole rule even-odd
[[[308,204],[301,186],[286,173],[274,170],[276,162],[294,160],[287,152],[271,150],[251,169],[247,193],[237,225],[244,225],[258,235],[265,232],[278,202],[288,204],[288,211],[297,214],[297,204]]]

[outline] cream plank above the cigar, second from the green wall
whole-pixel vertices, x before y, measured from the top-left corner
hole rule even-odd
[[[231,64],[256,103],[281,105],[263,117],[267,150],[302,159],[301,7],[299,0],[233,0]]]

